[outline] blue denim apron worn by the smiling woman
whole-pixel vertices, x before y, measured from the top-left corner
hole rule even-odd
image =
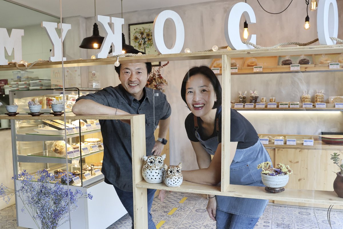
[[[218,137],[203,141],[196,128],[196,137],[203,148],[211,155],[214,155],[218,147]],[[261,180],[261,170],[257,165],[271,161],[267,150],[260,139],[255,145],[246,149],[237,149],[234,159],[230,165],[230,184],[264,186]],[[263,214],[268,204],[266,199],[251,199],[231,196],[218,196],[217,209],[236,215],[257,218]]]

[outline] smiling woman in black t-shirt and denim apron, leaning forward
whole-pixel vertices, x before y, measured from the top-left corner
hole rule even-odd
[[[185,128],[199,170],[182,171],[184,180],[217,185],[221,181],[222,89],[207,66],[193,67],[182,81],[181,97],[190,113]],[[271,161],[250,122],[231,109],[230,184],[263,186],[257,165]],[[213,159],[211,160],[211,155]],[[215,198],[214,198],[215,197]],[[268,200],[209,195],[207,211],[218,228],[253,228]]]

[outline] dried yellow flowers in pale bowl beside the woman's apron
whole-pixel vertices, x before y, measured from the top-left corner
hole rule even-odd
[[[262,182],[266,186],[264,189],[267,192],[278,193],[285,191],[284,186],[288,182],[288,175],[292,174],[292,169],[288,165],[281,163],[277,164],[276,168],[272,167],[270,161],[263,162],[257,166],[262,169]]]

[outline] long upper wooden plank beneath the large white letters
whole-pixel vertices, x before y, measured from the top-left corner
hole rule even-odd
[[[263,57],[263,56],[286,56],[286,55],[302,55],[302,54],[329,54],[329,53],[343,53],[343,45],[318,45],[307,47],[285,47],[274,49],[249,49],[249,50],[231,50],[222,49],[219,51],[196,52],[196,53],[178,53],[178,54],[163,54],[163,55],[145,55],[132,57],[119,57],[120,63],[137,63],[137,62],[155,62],[155,61],[180,61],[180,60],[199,60],[199,59],[213,59],[222,58],[222,55],[228,55],[231,58],[235,57]],[[82,67],[82,66],[96,66],[96,65],[113,65],[117,58],[100,58],[87,60],[67,60],[63,61],[63,67]],[[20,64],[19,67],[24,67]],[[42,68],[61,68],[62,62],[44,62],[37,63],[30,69]],[[1,65],[0,71],[17,70],[15,65]],[[245,69],[249,70],[250,69]],[[263,72],[272,69],[264,69]],[[328,70],[325,67],[325,70]],[[243,71],[241,71],[243,73]]]

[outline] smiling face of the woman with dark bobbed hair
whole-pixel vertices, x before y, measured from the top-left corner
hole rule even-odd
[[[212,110],[216,94],[210,80],[199,73],[189,78],[186,83],[186,102],[191,112],[201,117]]]

